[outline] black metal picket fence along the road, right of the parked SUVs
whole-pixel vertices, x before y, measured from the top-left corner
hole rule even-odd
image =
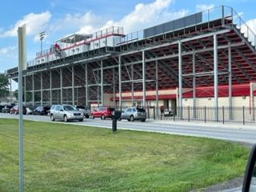
[[[122,110],[125,109],[126,106],[122,107]],[[177,106],[175,108],[169,109],[163,109],[162,107],[157,108],[156,106],[146,106],[145,110],[147,118],[155,120],[186,122],[220,122],[223,124],[237,122],[241,123],[242,125],[256,123],[255,109],[253,107],[246,106],[219,106],[217,110],[215,107],[212,106]],[[216,119],[216,117],[218,118]]]

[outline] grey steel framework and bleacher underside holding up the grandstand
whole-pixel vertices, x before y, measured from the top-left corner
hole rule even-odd
[[[232,106],[232,84],[256,81],[255,36],[251,42],[248,27],[247,34],[243,33],[241,18],[236,24],[239,16],[232,8],[228,13],[225,6],[218,9],[221,17],[194,26],[30,66],[23,74],[26,101],[104,105],[104,93],[112,93],[113,106],[118,101],[122,109],[122,93],[131,92],[133,103],[134,91],[141,90],[146,107],[146,90],[155,90],[158,107],[159,90],[178,88],[181,117],[184,88],[193,90],[196,106],[195,87],[214,86],[218,121],[218,85],[229,85]],[[7,70],[15,81],[17,72],[17,68]]]

